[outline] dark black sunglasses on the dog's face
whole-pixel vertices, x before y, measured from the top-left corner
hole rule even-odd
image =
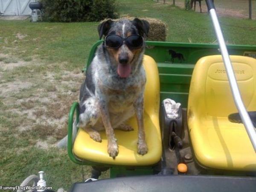
[[[130,35],[126,38],[122,38],[119,35],[107,35],[104,45],[111,49],[117,49],[122,46],[124,41],[130,49],[140,49],[143,47],[143,37],[140,35]]]

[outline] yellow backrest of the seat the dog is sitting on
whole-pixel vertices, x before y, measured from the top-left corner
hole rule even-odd
[[[144,91],[144,111],[148,115],[159,115],[160,106],[160,80],[157,64],[153,58],[144,55],[143,67],[146,72],[146,85]]]

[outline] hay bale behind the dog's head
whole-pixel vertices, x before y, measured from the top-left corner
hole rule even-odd
[[[119,19],[113,19],[113,21],[119,21],[123,19],[128,19],[128,20],[134,20],[135,17],[129,17],[125,16]],[[166,41],[166,24],[158,19],[150,18],[150,17],[140,17],[139,19],[143,19],[148,21],[150,24],[149,28],[149,33],[148,37],[145,37],[146,40],[148,41]],[[107,20],[107,19],[105,19]],[[103,21],[105,21],[103,20]],[[102,21],[102,22],[103,22]]]

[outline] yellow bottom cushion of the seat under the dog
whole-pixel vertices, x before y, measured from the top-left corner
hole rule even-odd
[[[144,113],[144,125],[146,142],[148,144],[148,153],[145,155],[137,154],[138,129],[135,117],[128,121],[128,125],[134,128],[134,131],[115,130],[115,136],[119,147],[119,154],[113,160],[109,157],[108,140],[105,131],[100,131],[102,143],[96,142],[83,130],[79,130],[74,143],[74,154],[85,160],[97,163],[146,166],[157,163],[162,154],[161,138],[157,117],[152,117]]]

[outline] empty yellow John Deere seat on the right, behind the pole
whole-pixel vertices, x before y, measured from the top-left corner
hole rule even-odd
[[[231,55],[247,111],[256,111],[256,59]],[[241,123],[228,120],[238,113],[221,55],[198,60],[192,74],[188,127],[195,157],[208,168],[256,171],[256,153]]]

